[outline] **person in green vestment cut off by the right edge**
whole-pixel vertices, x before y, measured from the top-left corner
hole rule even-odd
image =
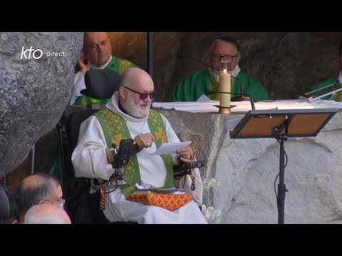
[[[318,82],[316,85],[310,86],[310,91],[314,91],[317,89],[320,89],[322,87],[325,87],[327,85],[332,85],[332,87],[326,88],[326,90],[318,91],[316,96],[323,95],[326,92],[331,92],[333,90],[337,90],[342,87],[342,41],[340,43],[340,46],[338,47],[338,63],[340,65],[340,72],[337,76],[331,76],[327,78],[326,80],[323,80],[321,82]],[[342,91],[336,92],[335,95],[328,95],[326,97],[322,97],[321,100],[335,100],[338,102],[342,101]]]

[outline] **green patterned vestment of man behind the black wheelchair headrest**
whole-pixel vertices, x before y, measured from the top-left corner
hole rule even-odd
[[[134,63],[131,63],[128,60],[123,60],[123,59],[113,56],[112,60],[110,60],[110,63],[108,63],[108,65],[105,66],[105,69],[113,70],[116,73],[121,75],[123,71],[125,71],[127,68],[132,68],[132,67],[136,67],[136,65]],[[88,105],[89,103],[95,103],[95,102],[99,102],[100,104],[105,105],[109,100],[110,99],[97,100],[97,99],[94,99],[93,97],[87,97],[87,96],[81,95],[75,100],[73,105]]]

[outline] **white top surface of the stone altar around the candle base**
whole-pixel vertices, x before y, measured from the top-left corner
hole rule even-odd
[[[232,107],[232,114],[240,114],[247,113],[249,110],[252,110],[251,102],[243,101],[243,102],[231,102],[232,105],[236,107]],[[153,108],[164,108],[169,110],[180,110],[185,112],[192,113],[218,113],[219,109],[214,105],[219,105],[218,100],[211,100],[209,102],[154,102]],[[264,102],[255,102],[256,110],[276,110],[278,107],[308,107],[313,106],[316,108],[342,108],[341,102],[336,102],[333,100],[314,100],[311,103],[308,103],[306,100],[275,100],[275,101],[264,101]]]

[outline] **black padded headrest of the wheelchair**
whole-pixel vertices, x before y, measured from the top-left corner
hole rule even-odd
[[[86,89],[81,90],[81,94],[103,100],[110,99],[118,90],[120,75],[113,70],[90,69],[84,80]]]

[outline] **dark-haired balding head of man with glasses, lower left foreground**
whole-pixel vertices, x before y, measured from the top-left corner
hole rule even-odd
[[[63,208],[63,191],[59,181],[43,173],[31,174],[24,178],[16,188],[18,197],[19,223],[24,223],[24,216],[29,208],[39,204],[50,204]]]

